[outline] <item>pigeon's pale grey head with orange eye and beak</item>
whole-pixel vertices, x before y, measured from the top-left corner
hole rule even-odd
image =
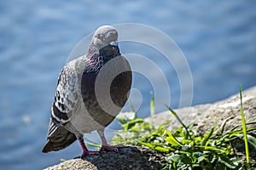
[[[100,50],[108,45],[117,46],[117,40],[118,32],[113,26],[101,26],[95,31],[91,43]]]

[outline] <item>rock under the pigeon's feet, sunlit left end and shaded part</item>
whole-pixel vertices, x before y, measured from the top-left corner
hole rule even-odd
[[[59,165],[48,167],[47,170],[57,169],[160,169],[161,162],[165,161],[163,156],[143,147],[127,146],[119,148],[118,152],[106,152],[98,155],[86,156],[84,160],[77,158],[63,161]]]

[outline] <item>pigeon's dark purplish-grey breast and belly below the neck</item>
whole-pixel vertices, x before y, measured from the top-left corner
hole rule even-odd
[[[75,127],[82,133],[107,127],[125,105],[130,89],[131,67],[123,56],[109,60],[99,71],[84,71],[83,104],[74,117]]]

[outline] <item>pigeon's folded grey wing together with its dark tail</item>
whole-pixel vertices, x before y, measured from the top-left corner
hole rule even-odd
[[[77,139],[74,133],[64,127],[79,110],[81,103],[77,61],[75,59],[65,65],[58,78],[55,100],[51,107],[48,141],[42,150],[44,153],[64,149]]]

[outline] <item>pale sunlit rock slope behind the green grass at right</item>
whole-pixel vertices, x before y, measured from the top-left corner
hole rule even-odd
[[[256,121],[256,87],[245,90],[242,92],[242,95],[246,122]],[[225,131],[241,124],[239,94],[232,95],[228,99],[213,104],[195,105],[174,111],[185,125],[195,123],[194,129],[199,133],[207,133],[215,123],[217,123],[217,127],[220,127],[224,121],[226,121]],[[168,129],[172,130],[181,126],[176,118],[171,116],[170,111],[161,112],[145,120],[147,122],[154,122],[154,125],[158,127],[167,119],[170,119]]]

